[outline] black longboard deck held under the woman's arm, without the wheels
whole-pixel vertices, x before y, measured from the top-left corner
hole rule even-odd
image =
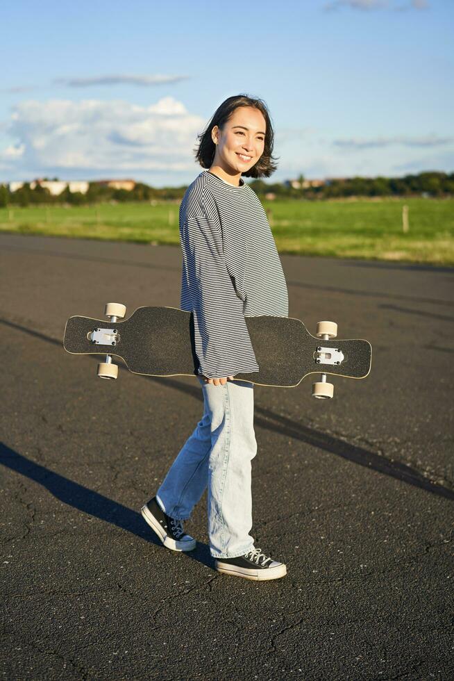
[[[355,379],[369,374],[369,341],[316,338],[292,317],[262,315],[245,320],[260,370],[237,373],[233,380],[294,388],[311,373]],[[71,354],[120,357],[135,374],[198,375],[192,313],[174,307],[139,307],[128,319],[114,322],[70,317],[63,347]]]

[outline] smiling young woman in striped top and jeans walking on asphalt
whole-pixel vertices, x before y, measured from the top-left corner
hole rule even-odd
[[[216,570],[273,580],[287,573],[285,565],[255,548],[249,534],[257,452],[253,384],[232,380],[259,370],[244,318],[288,316],[287,284],[267,215],[242,177],[269,177],[277,167],[266,104],[228,97],[199,140],[196,160],[205,170],[180,205],[180,307],[194,315],[204,411],[142,515],[167,548],[192,550],[196,542],[183,520],[208,487]]]

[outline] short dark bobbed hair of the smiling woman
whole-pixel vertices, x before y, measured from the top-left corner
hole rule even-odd
[[[233,112],[239,106],[253,106],[262,112],[264,120],[267,122],[267,129],[265,131],[264,139],[264,149],[263,154],[260,156],[259,160],[255,165],[253,165],[249,170],[243,172],[242,175],[245,177],[269,177],[277,169],[276,158],[273,156],[273,146],[274,146],[274,131],[271,125],[271,116],[267,105],[262,99],[255,97],[249,97],[248,95],[233,95],[233,97],[228,97],[225,99],[220,106],[218,106],[213,115],[212,119],[205,127],[203,133],[197,136],[199,141],[199,147],[194,149],[196,155],[196,161],[199,161],[203,168],[209,168],[215,158],[216,145],[211,137],[211,131],[217,125],[221,130],[224,124],[233,115]]]

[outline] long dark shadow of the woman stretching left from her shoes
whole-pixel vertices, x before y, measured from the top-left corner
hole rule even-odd
[[[140,539],[154,543],[164,549],[151,527],[147,527],[142,515],[137,511],[132,511],[123,504],[108,499],[99,492],[94,492],[92,489],[88,489],[78,482],[73,482],[73,480],[69,480],[59,473],[53,473],[53,470],[23,457],[22,454],[18,454],[3,443],[0,443],[0,463],[6,468],[15,470],[16,473],[25,475],[39,483],[48,489],[54,497],[78,509],[78,511],[83,511],[83,513],[104,520],[106,523],[116,525],[121,530],[131,532]],[[210,555],[208,545],[199,541],[194,551],[187,551],[185,555],[210,568],[214,566],[214,559]]]

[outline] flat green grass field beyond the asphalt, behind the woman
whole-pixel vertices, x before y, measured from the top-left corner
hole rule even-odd
[[[289,200],[263,206],[280,253],[454,265],[454,199]],[[178,208],[179,202],[0,208],[0,231],[178,245]]]

